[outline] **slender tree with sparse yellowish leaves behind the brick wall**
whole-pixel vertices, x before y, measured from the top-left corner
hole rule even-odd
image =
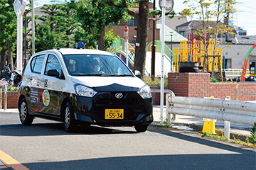
[[[186,0],[183,4],[186,4],[188,8],[183,9],[181,16],[189,16],[191,18],[196,18],[201,21],[201,28],[193,28],[196,30],[196,35],[200,35],[201,40],[203,40],[203,45],[205,49],[205,55],[203,60],[203,72],[206,72],[207,61],[208,61],[208,40],[206,40],[207,34],[210,35],[211,39],[217,40],[219,35],[234,34],[233,28],[228,26],[229,13],[234,13],[235,0]],[[222,23],[221,21],[224,21]],[[210,23],[215,23],[215,28],[210,26]],[[203,39],[204,37],[204,39]],[[214,52],[215,52],[214,47]],[[214,54],[215,55],[215,54]]]

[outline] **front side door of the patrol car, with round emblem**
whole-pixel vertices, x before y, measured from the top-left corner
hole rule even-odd
[[[60,96],[65,88],[63,68],[56,56],[50,53],[47,55],[46,67],[39,84],[42,95],[41,104],[43,106],[43,113],[50,115],[60,115]],[[58,71],[58,77],[48,75],[48,71],[53,69]]]

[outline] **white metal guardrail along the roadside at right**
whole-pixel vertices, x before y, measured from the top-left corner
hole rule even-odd
[[[256,122],[255,111],[256,103],[166,94],[166,118],[169,123],[171,123],[171,114],[177,114],[253,125]],[[175,116],[172,120],[175,121]],[[229,123],[224,125],[230,126]],[[230,127],[224,127],[224,135],[230,137],[229,132]]]

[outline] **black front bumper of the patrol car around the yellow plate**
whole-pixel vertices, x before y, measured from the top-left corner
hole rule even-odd
[[[143,99],[137,91],[122,92],[124,98],[114,97],[116,92],[98,92],[93,98],[75,96],[75,119],[102,126],[149,125],[153,122],[152,98]],[[123,109],[123,119],[105,119],[106,109]]]

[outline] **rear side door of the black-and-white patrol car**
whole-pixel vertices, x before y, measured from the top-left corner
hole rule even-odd
[[[43,64],[46,54],[41,54],[34,56],[29,63],[30,69],[27,70],[26,74],[23,77],[23,80],[26,81],[26,86],[28,86],[28,108],[33,113],[41,113],[42,105],[40,103],[41,95],[39,90],[40,79],[42,77]]]

